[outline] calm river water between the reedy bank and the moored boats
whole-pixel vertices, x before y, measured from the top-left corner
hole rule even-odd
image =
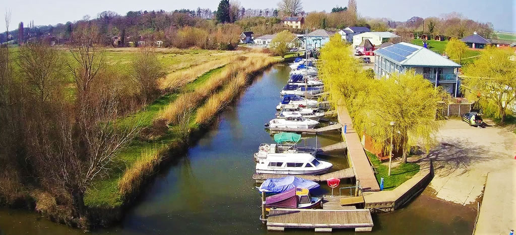
[[[259,221],[260,195],[251,178],[253,153],[260,143],[273,143],[264,124],[273,118],[279,91],[289,68],[277,64],[257,76],[240,98],[220,115],[220,121],[188,154],[157,175],[123,221],[98,234],[256,234],[268,233]],[[317,145],[340,142],[338,133],[318,136]],[[315,138],[301,141],[314,145]],[[348,167],[342,154],[325,157],[334,170]],[[343,182],[346,186],[349,182]],[[329,193],[328,187],[321,187]],[[405,208],[373,214],[373,233],[471,234],[475,210],[441,202],[425,191]],[[476,209],[476,208],[475,208]],[[334,230],[354,234],[354,230]],[[313,234],[312,230],[287,233]],[[81,234],[25,210],[0,209],[0,234]],[[280,234],[280,233],[278,233]]]

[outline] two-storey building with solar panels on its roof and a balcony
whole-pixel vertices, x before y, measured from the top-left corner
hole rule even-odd
[[[414,70],[445,91],[457,97],[460,86],[460,64],[451,61],[422,46],[400,42],[375,51],[375,74],[377,78],[394,73]]]

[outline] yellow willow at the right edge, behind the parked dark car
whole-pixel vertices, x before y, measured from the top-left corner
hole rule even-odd
[[[516,105],[516,62],[511,49],[489,46],[464,69],[462,89],[485,114],[505,121],[507,109]]]

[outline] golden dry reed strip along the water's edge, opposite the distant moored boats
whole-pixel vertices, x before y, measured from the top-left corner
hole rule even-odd
[[[252,75],[262,71],[276,60],[268,56],[249,57],[241,63],[241,69],[232,77],[222,91],[208,98],[206,103],[197,110],[196,123],[208,124],[215,115],[224,109],[232,100],[244,90]]]

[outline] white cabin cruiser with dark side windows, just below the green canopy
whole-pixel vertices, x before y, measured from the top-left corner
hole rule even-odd
[[[269,154],[256,163],[256,173],[282,175],[319,175],[328,172],[333,164],[321,161],[308,153]]]

